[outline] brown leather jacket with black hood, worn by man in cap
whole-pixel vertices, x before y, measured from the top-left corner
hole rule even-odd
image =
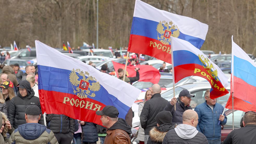
[[[104,144],[131,144],[129,134],[132,133],[131,127],[122,118],[107,129],[107,136]]]

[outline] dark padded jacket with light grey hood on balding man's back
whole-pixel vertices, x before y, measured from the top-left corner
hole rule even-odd
[[[179,124],[166,133],[162,144],[208,144],[207,138],[188,124]]]

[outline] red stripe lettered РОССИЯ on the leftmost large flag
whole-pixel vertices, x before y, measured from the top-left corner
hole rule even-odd
[[[90,98],[81,99],[69,93],[47,90],[39,90],[39,99],[43,113],[64,114],[74,119],[102,125],[101,116],[96,115],[96,110],[102,110],[105,107],[101,102]],[[101,107],[97,108],[97,105]]]

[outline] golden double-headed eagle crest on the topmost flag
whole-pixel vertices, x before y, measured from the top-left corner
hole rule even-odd
[[[164,26],[163,26],[164,25]],[[169,27],[170,26],[170,27]],[[160,34],[161,36],[159,37]],[[170,37],[179,37],[179,29],[178,26],[174,25],[173,22],[169,22],[169,24],[165,21],[159,22],[157,25],[157,39],[160,40],[164,45],[170,45],[171,39]]]

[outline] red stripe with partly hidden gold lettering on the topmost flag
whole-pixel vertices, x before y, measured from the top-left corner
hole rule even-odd
[[[149,37],[130,35],[128,51],[150,55],[170,64],[172,63],[171,45],[164,45],[159,40]]]

